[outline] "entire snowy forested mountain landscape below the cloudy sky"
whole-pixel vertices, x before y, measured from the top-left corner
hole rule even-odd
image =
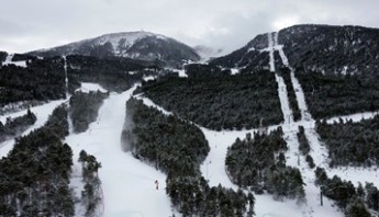
[[[208,64],[141,32],[0,53],[0,215],[378,216],[377,32],[297,25]]]

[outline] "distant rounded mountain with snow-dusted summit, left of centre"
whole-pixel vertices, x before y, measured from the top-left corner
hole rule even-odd
[[[42,57],[70,54],[99,58],[116,56],[148,61],[159,60],[170,66],[200,60],[200,56],[190,46],[174,38],[144,31],[112,33],[27,54]]]

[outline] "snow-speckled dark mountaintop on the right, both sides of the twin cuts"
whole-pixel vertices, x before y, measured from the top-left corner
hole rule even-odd
[[[363,26],[294,25],[278,33],[278,44],[293,68],[323,73],[378,73],[379,30]],[[267,34],[216,58],[211,65],[257,67],[268,65]]]

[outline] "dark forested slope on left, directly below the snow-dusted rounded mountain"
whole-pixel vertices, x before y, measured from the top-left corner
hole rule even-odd
[[[4,53],[4,57],[9,55]],[[120,57],[37,58],[19,54],[10,57],[12,61],[0,68],[0,114],[66,99],[66,93],[73,94],[81,82],[94,82],[109,91],[122,92],[141,81],[143,76],[157,73],[160,69],[152,61]],[[21,61],[24,66],[13,64]]]

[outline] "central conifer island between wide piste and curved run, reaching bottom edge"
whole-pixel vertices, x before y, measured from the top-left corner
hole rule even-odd
[[[125,150],[167,173],[166,192],[183,216],[254,214],[253,194],[246,196],[221,185],[210,187],[201,176],[200,163],[210,148],[193,124],[131,99],[126,103],[122,140]]]

